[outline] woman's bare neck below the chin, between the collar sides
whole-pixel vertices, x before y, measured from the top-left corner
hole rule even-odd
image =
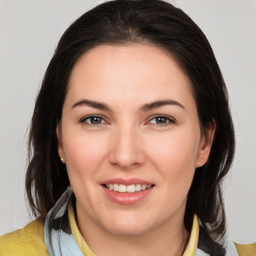
[[[77,223],[84,240],[97,256],[182,256],[189,238],[183,217],[170,219],[161,226],[135,235],[111,233],[88,216],[79,215],[79,211]]]

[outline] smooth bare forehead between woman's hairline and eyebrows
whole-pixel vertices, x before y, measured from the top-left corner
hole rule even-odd
[[[174,58],[143,44],[100,45],[87,51],[71,72],[67,94],[73,100],[109,98],[127,104],[191,98],[189,81]]]

